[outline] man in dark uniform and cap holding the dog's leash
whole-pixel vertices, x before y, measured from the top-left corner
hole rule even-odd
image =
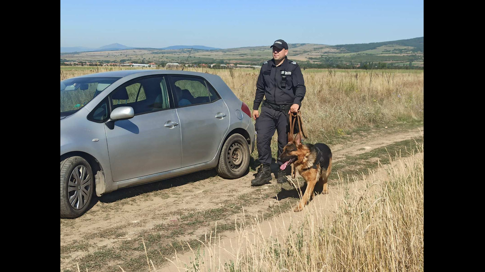
[[[288,43],[278,39],[271,45],[273,59],[265,61],[259,71],[256,82],[256,96],[253,104],[252,117],[256,120],[256,147],[259,155],[259,168],[256,177],[251,180],[252,186],[260,186],[272,179],[271,177],[271,138],[278,132],[278,156],[288,143],[290,132],[289,115],[298,112],[301,101],[305,97],[305,82],[301,69],[294,61],[287,58]],[[263,97],[266,99],[263,101]],[[262,105],[261,105],[262,102]],[[261,105],[261,114],[259,106]],[[298,128],[295,128],[296,133]],[[282,162],[278,161],[281,165]],[[278,170],[278,183],[286,182],[286,171]]]

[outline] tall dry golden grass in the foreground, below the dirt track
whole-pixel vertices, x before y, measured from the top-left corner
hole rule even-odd
[[[350,184],[340,178],[335,203],[307,206],[301,217],[283,223],[287,231],[267,237],[263,224],[272,223],[256,220],[252,226],[237,226],[239,244],[245,246],[221,247],[211,235],[190,264],[179,265],[185,271],[204,272],[424,271],[420,149],[367,178]],[[335,210],[329,209],[332,204]]]

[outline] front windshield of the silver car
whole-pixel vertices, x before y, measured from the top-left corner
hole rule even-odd
[[[61,83],[61,117],[72,115],[120,78],[70,78]]]

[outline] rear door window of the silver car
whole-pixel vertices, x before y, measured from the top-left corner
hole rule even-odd
[[[179,107],[209,103],[209,90],[201,78],[172,77],[174,96]]]

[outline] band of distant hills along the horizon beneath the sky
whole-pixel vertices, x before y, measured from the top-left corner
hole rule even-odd
[[[290,43],[288,58],[305,68],[424,68],[424,37],[383,42],[327,45]],[[202,45],[174,45],[164,48],[128,47],[119,43],[96,49],[86,47],[62,51],[61,63],[69,61],[96,63],[156,63],[164,66],[184,64],[262,65],[272,58],[269,45],[219,49]],[[192,49],[191,49],[192,48]],[[129,50],[130,49],[130,50]],[[137,50],[132,50],[137,49]],[[117,51],[113,51],[117,50]],[[90,51],[105,51],[106,54]]]

